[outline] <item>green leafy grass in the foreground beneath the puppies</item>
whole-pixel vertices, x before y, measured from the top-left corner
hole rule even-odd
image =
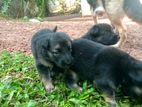
[[[0,107],[106,107],[104,97],[89,83],[83,92],[70,90],[62,78],[46,93],[34,66],[34,59],[23,53],[0,53]],[[142,107],[120,98],[118,107]],[[134,107],[134,106],[133,106]]]

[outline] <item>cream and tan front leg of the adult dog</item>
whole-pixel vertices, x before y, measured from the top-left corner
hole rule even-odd
[[[119,41],[113,46],[122,47],[127,39],[126,27],[122,23],[123,18],[125,17],[125,12],[123,11],[123,0],[106,0],[104,5],[111,24],[115,26],[120,35]]]

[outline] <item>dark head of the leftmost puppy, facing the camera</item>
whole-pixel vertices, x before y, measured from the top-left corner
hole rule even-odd
[[[55,32],[48,40],[47,54],[56,66],[68,68],[73,61],[72,44],[69,36],[63,32]]]

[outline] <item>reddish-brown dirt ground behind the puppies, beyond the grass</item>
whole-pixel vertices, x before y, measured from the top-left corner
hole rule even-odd
[[[100,22],[109,23],[107,19],[100,19]],[[125,52],[135,58],[142,59],[142,26],[124,20],[127,26],[128,39],[122,48]],[[0,20],[0,51],[22,51],[31,53],[30,41],[32,35],[41,28],[54,28],[58,26],[58,31],[66,32],[75,39],[82,36],[93,25],[92,17],[79,17],[62,21],[44,22],[22,22]]]

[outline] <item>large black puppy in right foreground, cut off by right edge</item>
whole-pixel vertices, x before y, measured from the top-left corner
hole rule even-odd
[[[118,87],[128,96],[142,98],[141,61],[114,47],[82,38],[73,41],[72,52],[72,84],[77,85],[78,79],[91,81],[107,94],[111,106],[115,106]]]

